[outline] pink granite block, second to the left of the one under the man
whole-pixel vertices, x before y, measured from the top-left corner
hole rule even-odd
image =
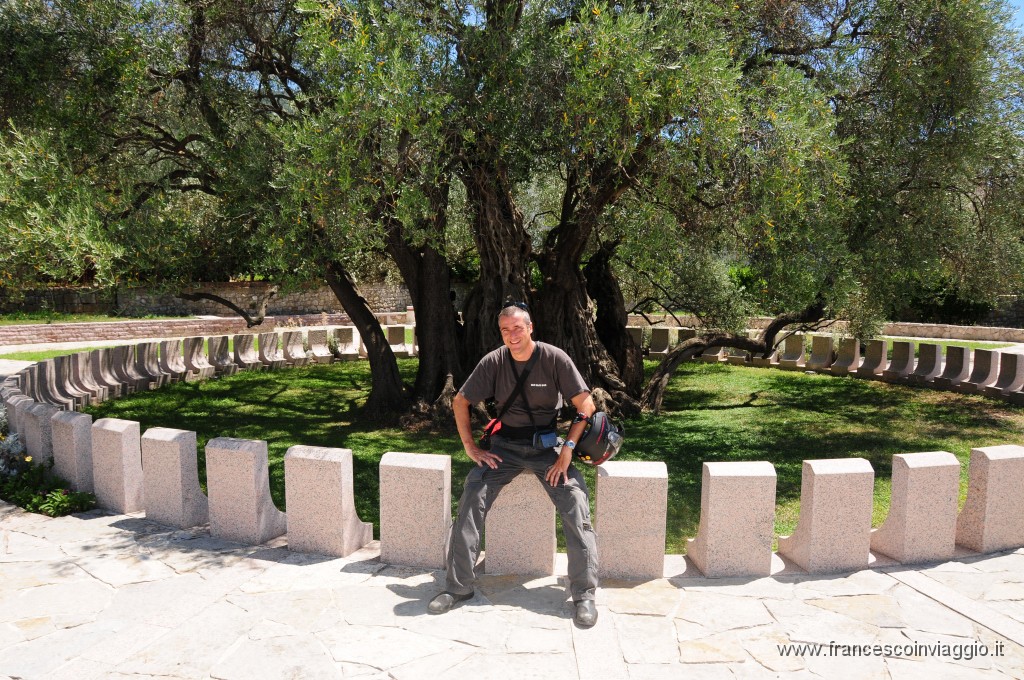
[[[355,513],[352,452],[292,447],[285,454],[288,549],[345,557],[374,540]]]

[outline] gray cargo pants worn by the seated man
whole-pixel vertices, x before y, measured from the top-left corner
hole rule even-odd
[[[544,484],[562,517],[572,601],[593,600],[597,590],[597,536],[590,521],[590,501],[583,475],[570,465],[568,481],[552,486],[544,474],[558,460],[554,450],[539,451],[528,441],[497,435],[492,438],[490,451],[502,459],[498,468],[478,466],[466,477],[459,517],[452,526],[449,542],[445,590],[459,595],[473,592],[484,517],[505,484],[523,470],[529,470]]]

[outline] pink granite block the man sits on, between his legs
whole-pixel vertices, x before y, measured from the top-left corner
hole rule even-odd
[[[487,573],[555,572],[555,506],[537,475],[522,472],[502,488],[487,512],[484,538]]]

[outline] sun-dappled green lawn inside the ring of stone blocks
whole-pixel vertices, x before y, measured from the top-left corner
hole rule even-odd
[[[411,382],[416,359],[400,359],[399,366]],[[210,438],[265,439],[271,492],[281,508],[285,506],[283,461],[289,447],[351,449],[359,516],[379,529],[378,463],[384,453],[453,455],[455,499],[471,463],[454,427],[447,432],[411,432],[361,421],[357,409],[369,381],[365,362],[241,373],[178,383],[103,403],[89,413],[95,418],[139,421],[143,431],[155,426],[196,431],[201,477],[205,477],[203,449]],[[694,363],[684,365],[673,379],[665,412],[627,422],[626,432],[620,460],[668,464],[667,551],[680,553],[685,552],[686,539],[696,534],[705,461],[773,463],[778,474],[775,529],[786,535],[799,515],[804,460],[866,458],[876,470],[877,526],[888,512],[894,454],[954,454],[962,462],[963,503],[971,449],[1020,442],[1024,411],[979,396],[854,378]],[[594,470],[581,467],[593,500]]]

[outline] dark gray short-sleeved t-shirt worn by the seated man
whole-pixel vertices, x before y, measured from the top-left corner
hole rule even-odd
[[[534,351],[540,352],[540,356],[526,378],[522,394],[529,400],[534,423],[538,427],[544,427],[555,420],[558,410],[562,408],[563,396],[571,401],[580,392],[590,390],[572,359],[564,351],[545,342],[536,343]],[[487,353],[459,391],[470,403],[494,398],[501,409],[515,389],[515,376],[509,368],[511,362],[512,353],[504,345]],[[515,362],[515,368],[522,374],[526,362]],[[502,416],[502,422],[509,427],[528,427],[534,424],[526,413],[522,394]]]

